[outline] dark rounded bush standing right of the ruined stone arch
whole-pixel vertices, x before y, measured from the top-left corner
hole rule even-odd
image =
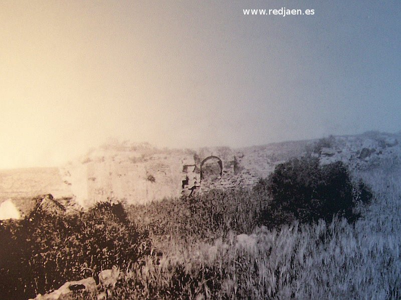
[[[368,202],[372,197],[363,184],[352,183],[341,161],[319,165],[312,156],[293,158],[276,166],[266,179],[259,180],[254,191],[269,202],[261,222],[270,227],[289,223],[330,222],[334,214],[355,220],[356,200]]]

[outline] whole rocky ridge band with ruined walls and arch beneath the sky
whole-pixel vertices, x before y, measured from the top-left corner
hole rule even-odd
[[[369,131],[242,148],[169,149],[115,142],[59,168],[0,170],[0,203],[12,199],[21,209],[24,199],[52,194],[73,197],[83,207],[111,200],[145,204],[211,188],[246,188],[277,164],[307,154],[322,164],[340,160],[351,171],[368,169],[399,161],[400,140],[400,133]]]

